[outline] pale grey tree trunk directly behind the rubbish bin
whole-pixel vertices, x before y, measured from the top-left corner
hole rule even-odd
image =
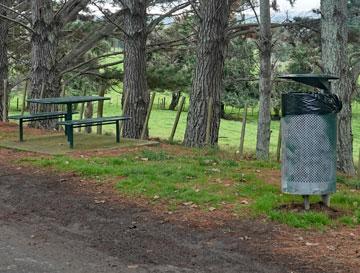
[[[348,175],[354,175],[351,130],[353,86],[347,56],[347,2],[346,0],[321,1],[321,44],[324,72],[340,77],[340,80],[332,84],[332,92],[337,94],[343,103],[337,121],[338,169]]]

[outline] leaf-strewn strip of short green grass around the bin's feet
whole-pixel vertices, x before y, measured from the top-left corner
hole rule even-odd
[[[282,209],[301,204],[302,197],[280,192],[279,164],[238,161],[218,150],[163,145],[118,156],[47,156],[20,161],[75,172],[103,183],[116,180],[120,193],[161,202],[169,211],[184,206],[208,213],[224,210],[238,217],[266,217],[297,228],[360,224],[358,181],[339,178],[339,191],[331,200],[336,217],[328,211]],[[311,197],[311,201],[319,202],[320,197]]]

